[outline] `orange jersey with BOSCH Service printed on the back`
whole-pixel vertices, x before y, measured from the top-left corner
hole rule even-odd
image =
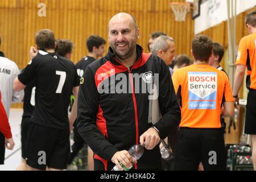
[[[180,127],[221,127],[221,104],[234,101],[224,72],[207,64],[193,64],[175,71],[172,82],[181,107]]]

